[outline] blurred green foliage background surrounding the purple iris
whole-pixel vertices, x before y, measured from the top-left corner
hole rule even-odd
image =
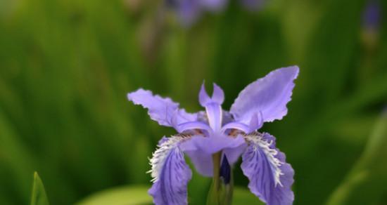
[[[228,110],[244,86],[289,65],[300,76],[288,116],[262,131],[296,171],[294,204],[387,204],[380,3],[381,24],[369,29],[362,0],[267,0],[258,11],[231,1],[191,27],[161,0],[0,0],[0,204],[28,204],[33,171],[51,204],[149,187],[148,157],[174,131],[128,102],[129,91],[196,112],[205,79],[222,86]],[[194,173],[190,204],[204,203],[209,183]]]

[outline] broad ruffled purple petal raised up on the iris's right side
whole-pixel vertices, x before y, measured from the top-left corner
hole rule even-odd
[[[274,70],[266,77],[246,86],[231,105],[230,113],[236,121],[249,124],[253,114],[262,112],[263,121],[282,119],[291,100],[293,80],[298,76],[298,67]]]

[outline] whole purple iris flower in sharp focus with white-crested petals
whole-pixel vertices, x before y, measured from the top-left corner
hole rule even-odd
[[[221,152],[222,167],[232,166],[242,156],[241,168],[250,180],[248,187],[261,201],[292,204],[293,168],[286,163],[285,154],[275,147],[274,136],[258,129],[265,122],[282,119],[287,114],[286,104],[291,100],[297,76],[297,66],[270,72],[244,88],[229,112],[222,110],[224,93],[216,84],[212,96],[204,85],[201,87],[199,102],[205,111],[194,114],[151,91],[140,88],[129,93],[129,100],[147,108],[151,119],[178,132],[163,137],[153,153],[150,171],[153,186],[149,194],[154,203],[187,204],[186,187],[192,174],[184,154],[191,158],[198,173],[212,176],[212,154]],[[221,176],[227,175],[229,170],[222,169]]]

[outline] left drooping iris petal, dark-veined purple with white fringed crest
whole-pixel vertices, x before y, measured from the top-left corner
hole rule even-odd
[[[172,136],[162,140],[151,159],[154,183],[148,193],[155,204],[188,204],[186,187],[192,173],[179,148],[184,138]]]

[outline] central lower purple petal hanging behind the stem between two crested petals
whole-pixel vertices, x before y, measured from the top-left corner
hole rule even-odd
[[[212,176],[212,154],[229,149],[230,156],[227,155],[227,158],[230,164],[233,164],[237,159],[237,152],[234,153],[231,150],[239,148],[244,144],[245,140],[242,136],[231,138],[222,134],[214,134],[210,137],[196,135],[182,143],[180,148],[188,154],[196,170],[201,175]]]

